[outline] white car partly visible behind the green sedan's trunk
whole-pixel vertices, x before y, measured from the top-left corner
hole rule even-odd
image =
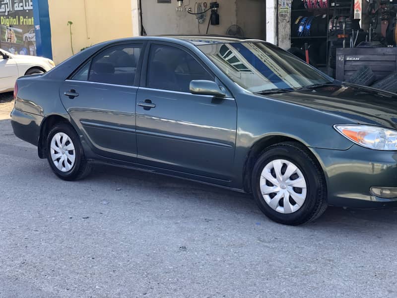
[[[43,74],[54,67],[54,61],[50,59],[15,55],[0,49],[0,93],[12,91],[19,76]]]

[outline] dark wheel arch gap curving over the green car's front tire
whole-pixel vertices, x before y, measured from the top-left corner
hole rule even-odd
[[[321,160],[319,160],[318,155],[315,154],[308,144],[306,144],[303,140],[299,140],[298,138],[292,137],[292,136],[287,136],[287,135],[279,135],[279,134],[272,134],[263,137],[262,139],[259,139],[256,141],[251,149],[248,151],[248,154],[246,156],[245,162],[244,162],[244,167],[243,167],[243,188],[244,191],[247,193],[251,193],[251,173],[252,169],[254,168],[255,161],[258,159],[258,157],[261,155],[261,153],[267,149],[268,147],[272,145],[276,145],[279,143],[284,143],[284,142],[293,142],[296,144],[299,144],[303,146],[305,149],[307,149],[307,152],[316,160],[323,172],[323,176],[326,181],[326,186],[328,184],[328,177],[326,175],[326,172],[324,171],[324,164]]]

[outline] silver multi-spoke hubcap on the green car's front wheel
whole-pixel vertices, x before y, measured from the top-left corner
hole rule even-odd
[[[291,161],[270,161],[262,171],[260,184],[265,202],[279,213],[294,213],[305,203],[306,180]]]

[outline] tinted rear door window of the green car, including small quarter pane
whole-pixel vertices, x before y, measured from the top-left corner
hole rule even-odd
[[[111,47],[95,56],[71,79],[132,86],[141,51],[141,44]]]

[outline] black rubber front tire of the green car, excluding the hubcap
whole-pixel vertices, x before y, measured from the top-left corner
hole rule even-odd
[[[262,171],[270,161],[275,159],[285,159],[293,162],[300,169],[306,180],[307,193],[305,202],[298,211],[291,214],[282,214],[273,210],[267,205],[261,192],[260,180]],[[252,190],[259,208],[268,218],[281,224],[301,224],[311,218],[318,205],[318,196],[322,193],[320,191],[322,185],[319,183],[319,178],[322,179],[321,173],[318,171],[314,161],[309,159],[303,151],[292,146],[277,146],[265,150],[256,162],[253,169]]]

